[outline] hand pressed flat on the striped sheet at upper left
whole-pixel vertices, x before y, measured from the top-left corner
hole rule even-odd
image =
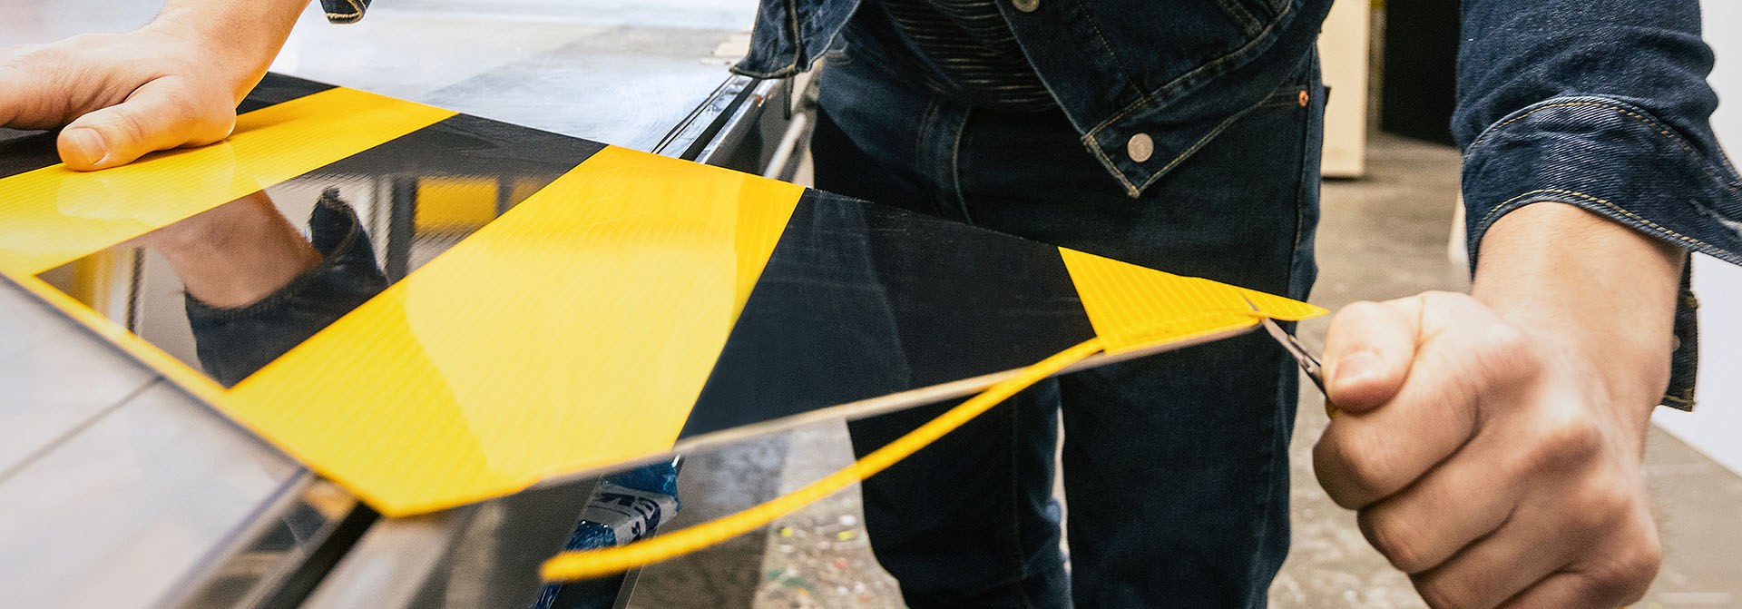
[[[71,169],[219,141],[307,0],[171,0],[131,33],[0,49],[0,127],[64,127]]]

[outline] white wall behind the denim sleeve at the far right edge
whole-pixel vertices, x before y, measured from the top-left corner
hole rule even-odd
[[[1705,0],[1705,42],[1718,52],[1711,84],[1719,106],[1712,117],[1730,159],[1742,162],[1742,2]],[[1742,267],[1695,257],[1693,291],[1700,298],[1700,386],[1695,414],[1658,408],[1653,421],[1742,473]]]

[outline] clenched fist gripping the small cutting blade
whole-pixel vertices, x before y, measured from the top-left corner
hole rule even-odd
[[[1564,316],[1505,312],[1458,293],[1343,309],[1319,482],[1435,609],[1637,600],[1660,562],[1641,455],[1667,346],[1604,352]]]

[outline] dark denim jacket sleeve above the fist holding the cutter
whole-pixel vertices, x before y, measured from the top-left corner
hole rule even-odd
[[[1697,0],[1463,0],[1453,134],[1472,269],[1502,215],[1545,201],[1742,263],[1742,185],[1709,126],[1711,68]],[[1693,304],[1685,276],[1664,396],[1685,410]]]

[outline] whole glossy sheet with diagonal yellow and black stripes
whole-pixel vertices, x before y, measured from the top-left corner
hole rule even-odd
[[[244,110],[85,174],[0,133],[0,270],[388,515],[970,393],[1094,335],[1225,337],[1242,293],[1320,312],[294,79]]]

